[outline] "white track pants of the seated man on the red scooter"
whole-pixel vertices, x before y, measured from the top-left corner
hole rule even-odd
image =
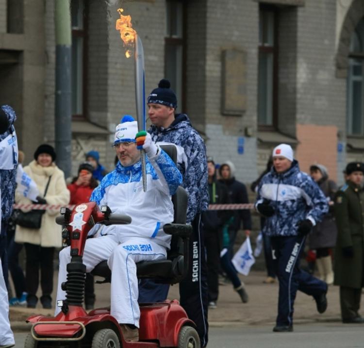
[[[165,257],[165,248],[149,238],[125,238],[125,241],[118,243],[115,236],[105,235],[86,240],[83,264],[86,266],[86,272],[90,272],[101,261],[107,260],[112,272],[111,315],[120,324],[134,324],[139,327],[140,310],[135,264],[139,261],[160,260]],[[61,289],[61,284],[67,280],[66,266],[70,261],[69,247],[61,250],[57,300],[66,299],[66,292]],[[56,307],[55,315],[60,311],[61,308]]]

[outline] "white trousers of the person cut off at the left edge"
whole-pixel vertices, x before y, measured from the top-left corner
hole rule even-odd
[[[0,346],[13,345],[14,343],[14,334],[11,331],[9,322],[8,292],[2,275],[0,259]]]

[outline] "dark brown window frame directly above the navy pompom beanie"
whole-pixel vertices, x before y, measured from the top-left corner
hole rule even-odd
[[[186,110],[186,97],[187,97],[187,1],[183,0],[166,0],[167,2],[180,2],[182,3],[182,38],[166,36],[165,33],[165,52],[164,52],[164,74],[165,74],[165,63],[167,61],[167,47],[169,46],[182,46],[182,100],[177,100],[181,105],[181,112]],[[168,16],[166,16],[168,18]],[[172,22],[172,16],[169,16]],[[171,23],[170,23],[171,27]]]

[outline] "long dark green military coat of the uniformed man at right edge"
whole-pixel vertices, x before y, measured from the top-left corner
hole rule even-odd
[[[364,192],[361,187],[347,181],[336,194],[334,213],[337,226],[334,284],[359,289],[364,281]],[[354,257],[344,257],[344,247],[353,247]]]

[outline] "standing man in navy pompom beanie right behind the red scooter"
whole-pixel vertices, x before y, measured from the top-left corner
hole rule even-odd
[[[207,345],[208,286],[206,253],[201,232],[201,213],[208,209],[207,160],[205,143],[192,127],[186,114],[176,114],[177,97],[168,80],[161,80],[148,97],[148,132],[154,142],[174,144],[178,152],[178,169],[188,193],[187,223],[193,226],[190,238],[190,265],[180,282],[180,301],[199,333],[201,347]],[[193,266],[192,266],[193,265]],[[139,302],[153,302],[167,297],[169,286],[142,281]]]

